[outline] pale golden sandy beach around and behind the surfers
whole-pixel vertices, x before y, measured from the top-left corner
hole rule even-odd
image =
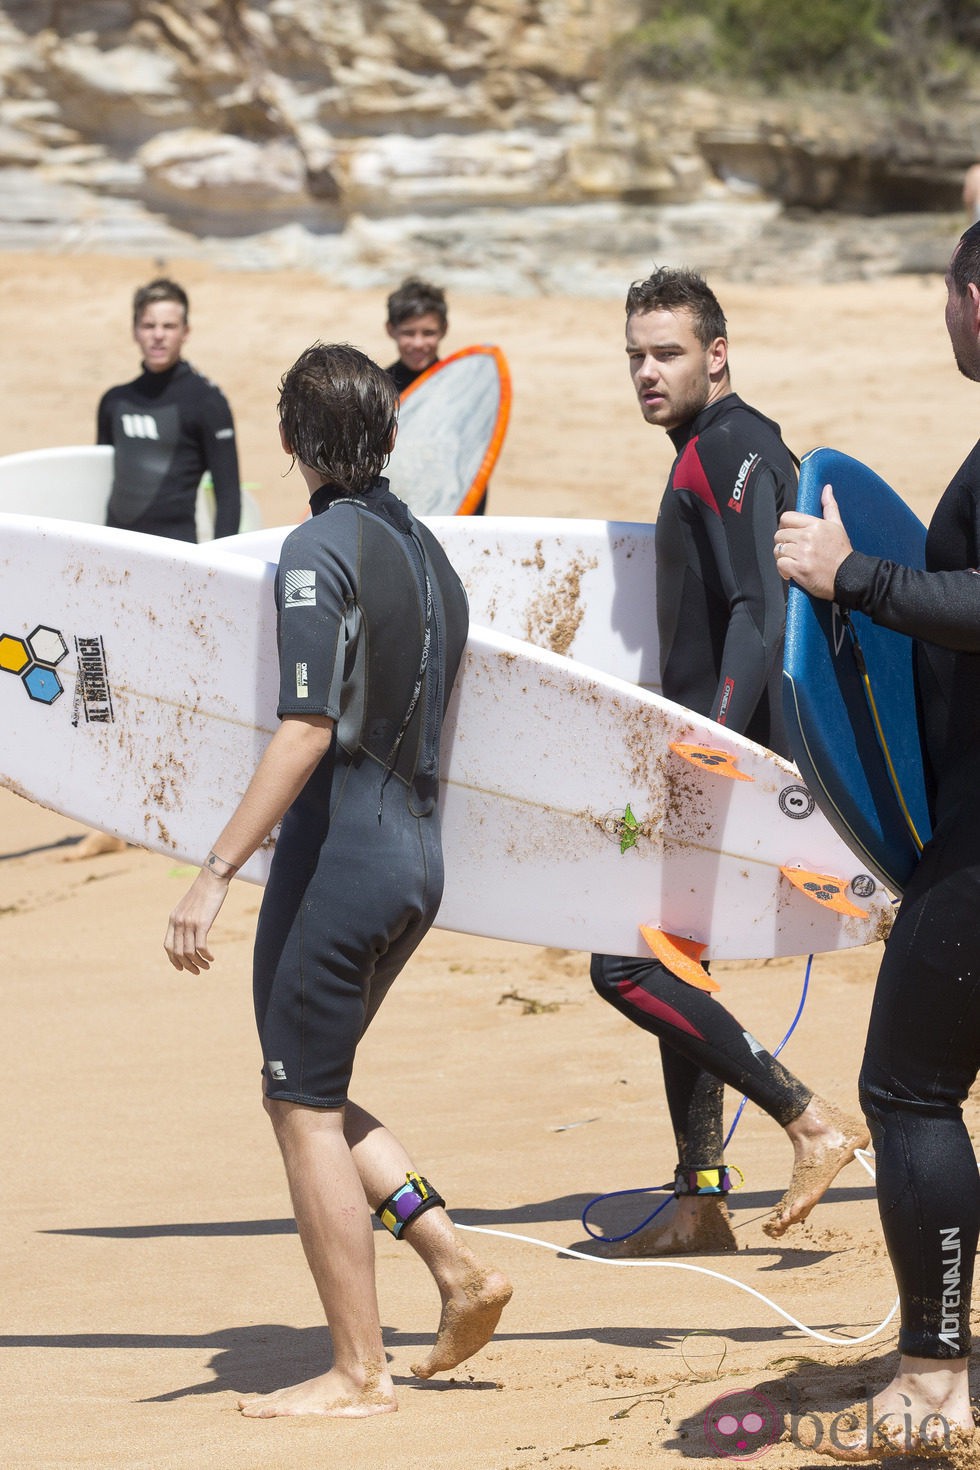
[[[281,373],[317,338],[392,356],[383,298],[313,275],[0,256],[0,453],[93,441],[100,392],[138,365],[132,288],[163,268],[190,290],[185,356],[232,404],[244,482],[266,523],[297,519],[303,485],[284,473],[276,435]],[[798,454],[855,454],[927,517],[980,423],[977,390],[952,362],[942,279],[713,284],[736,391]],[[450,309],[447,350],[494,341],[513,372],[491,513],[654,519],[671,450],[636,409],[621,304],[453,295]],[[792,1154],[751,1105],[729,1148],[745,1176],[732,1197],[738,1254],[560,1255],[586,1239],[594,1197],[671,1177],[657,1047],[594,997],[586,956],[433,931],[361,1047],[353,1092],[397,1125],[514,1298],[489,1348],[453,1374],[414,1379],[438,1299],[411,1251],[378,1233],[400,1413],[242,1419],[241,1394],[319,1372],[326,1342],[260,1107],[260,895],[232,885],[215,969],[176,975],[162,941],[188,870],[132,848],[68,863],[79,832],[0,791],[0,1464],[701,1467],[733,1457],[704,1427],[721,1396],[818,1416],[796,1433],[807,1445],[889,1376],[895,1324],[873,1333],[895,1289],[868,1173],[851,1164],[804,1226],[770,1241],[763,1222]],[[877,961],[877,947],[818,956],[783,1054],[849,1110]],[[804,960],[717,973],[721,1000],[774,1047]],[[736,1105],[730,1095],[729,1116]],[[968,1122],[976,1133],[973,1100]],[[623,1232],[655,1202],[611,1201],[595,1225]],[[764,1460],[815,1457],[785,1441]]]

